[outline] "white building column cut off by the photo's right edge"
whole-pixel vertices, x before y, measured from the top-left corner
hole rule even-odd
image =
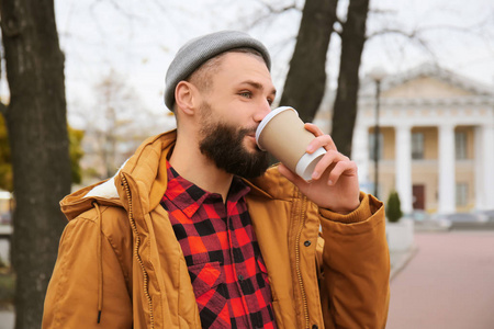
[[[494,209],[494,124],[475,129],[475,207]]]

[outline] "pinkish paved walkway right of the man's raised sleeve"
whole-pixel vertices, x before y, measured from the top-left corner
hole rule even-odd
[[[494,328],[494,231],[420,232],[391,282],[388,329]]]

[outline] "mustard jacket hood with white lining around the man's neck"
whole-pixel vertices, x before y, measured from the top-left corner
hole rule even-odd
[[[120,168],[114,177],[74,192],[60,202],[68,220],[93,207],[93,203],[106,206],[121,206],[128,211],[127,190],[132,191],[133,209],[136,215],[146,214],[158,206],[165,194],[168,179],[166,160],[170,155],[177,132],[171,131],[146,139],[136,152]],[[293,195],[294,185],[283,178],[272,166],[262,179],[245,180],[250,186],[250,196],[288,200]],[[136,197],[137,196],[137,197]]]

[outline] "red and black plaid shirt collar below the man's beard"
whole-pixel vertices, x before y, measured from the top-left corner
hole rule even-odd
[[[195,214],[207,198],[223,203],[222,196],[218,193],[204,191],[194,183],[186,180],[171,167],[169,161],[167,161],[167,197],[178,208],[182,209],[189,218]],[[250,188],[240,178],[234,175],[226,201],[228,204],[235,204],[249,192]]]

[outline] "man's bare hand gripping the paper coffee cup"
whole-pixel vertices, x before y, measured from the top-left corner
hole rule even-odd
[[[278,170],[319,207],[340,214],[351,213],[360,205],[357,164],[338,152],[332,137],[324,135],[316,125],[305,124],[305,129],[316,136],[307,146],[308,154],[319,147],[326,149],[326,154],[314,168],[312,180],[306,182],[284,164],[280,164]]]

